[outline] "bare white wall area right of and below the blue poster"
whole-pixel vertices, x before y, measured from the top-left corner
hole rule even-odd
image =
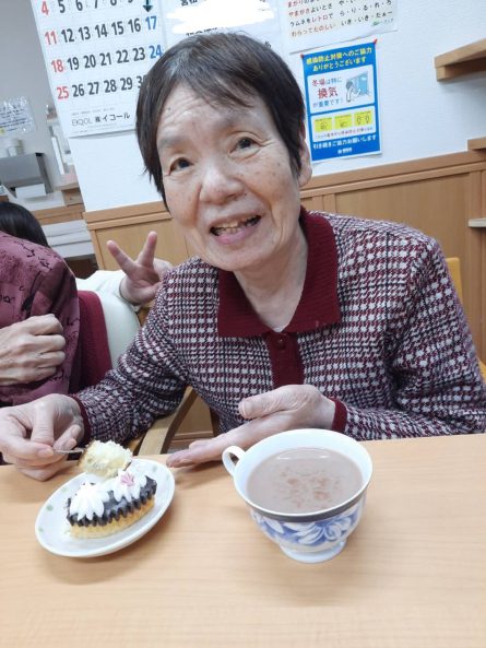
[[[486,37],[486,1],[398,4],[399,30],[377,43],[382,153],[323,162],[315,175],[464,151],[486,136],[486,72],[438,82],[434,66],[437,55]]]

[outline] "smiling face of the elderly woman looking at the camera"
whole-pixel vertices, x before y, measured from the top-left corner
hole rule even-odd
[[[307,146],[293,173],[288,151],[259,97],[209,104],[178,85],[162,110],[157,150],[167,207],[193,250],[233,272],[271,271],[303,236],[299,190]]]

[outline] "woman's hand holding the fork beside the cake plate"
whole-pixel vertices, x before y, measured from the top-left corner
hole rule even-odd
[[[0,410],[0,451],[28,476],[44,481],[64,467],[66,455],[83,436],[80,407],[68,396],[50,394]]]

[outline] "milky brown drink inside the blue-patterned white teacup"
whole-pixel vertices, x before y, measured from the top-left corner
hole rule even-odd
[[[257,466],[248,478],[247,495],[260,508],[309,514],[343,504],[361,486],[359,468],[344,455],[297,448]]]

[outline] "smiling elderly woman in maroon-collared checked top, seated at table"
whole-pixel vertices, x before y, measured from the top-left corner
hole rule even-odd
[[[191,385],[222,435],[170,456],[298,427],[357,439],[472,433],[486,390],[439,246],[402,225],[308,213],[299,87],[266,46],[190,37],[147,74],[138,137],[198,257],[170,271],[145,327],[96,387],[1,412],[0,449],[45,479],[54,448],[127,440]]]

